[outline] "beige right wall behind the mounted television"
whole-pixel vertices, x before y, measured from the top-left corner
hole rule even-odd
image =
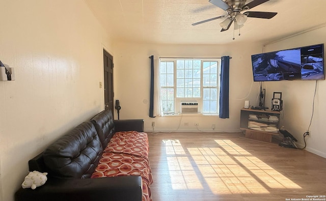
[[[325,35],[326,26],[319,27],[286,40],[270,43],[265,46],[265,51],[275,51],[320,43],[326,44]],[[326,63],[324,62],[324,64]],[[304,147],[303,134],[307,131],[311,120],[315,84],[316,81],[311,80],[264,83],[268,92],[266,100],[273,98],[273,92],[282,92],[284,112],[282,125],[298,139],[301,145],[300,148]],[[325,100],[326,80],[319,80],[317,81],[313,119],[309,129],[311,135],[306,137],[306,150],[324,158],[326,158]]]

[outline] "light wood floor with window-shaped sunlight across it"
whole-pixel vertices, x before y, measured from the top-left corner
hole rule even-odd
[[[326,195],[326,159],[305,150],[246,139],[242,133],[148,135],[153,201]]]

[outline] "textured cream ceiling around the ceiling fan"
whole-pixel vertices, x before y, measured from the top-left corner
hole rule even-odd
[[[85,0],[114,40],[173,44],[270,42],[323,26],[326,0],[270,0],[250,11],[277,12],[271,19],[248,18],[240,30],[221,32],[225,15],[208,0]],[[247,0],[247,4],[251,0]],[[243,13],[243,12],[242,12]],[[234,32],[233,32],[234,31]],[[240,36],[238,36],[240,31]],[[235,40],[232,40],[233,34]]]

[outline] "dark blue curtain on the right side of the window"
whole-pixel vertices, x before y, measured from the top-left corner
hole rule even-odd
[[[230,56],[222,56],[220,112],[219,112],[219,116],[222,119],[229,118],[229,74],[230,74]]]

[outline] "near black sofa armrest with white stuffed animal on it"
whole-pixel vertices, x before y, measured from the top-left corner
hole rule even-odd
[[[70,180],[49,178],[43,186],[34,190],[20,188],[15,193],[15,201],[22,200],[141,201],[142,178],[140,176]]]

